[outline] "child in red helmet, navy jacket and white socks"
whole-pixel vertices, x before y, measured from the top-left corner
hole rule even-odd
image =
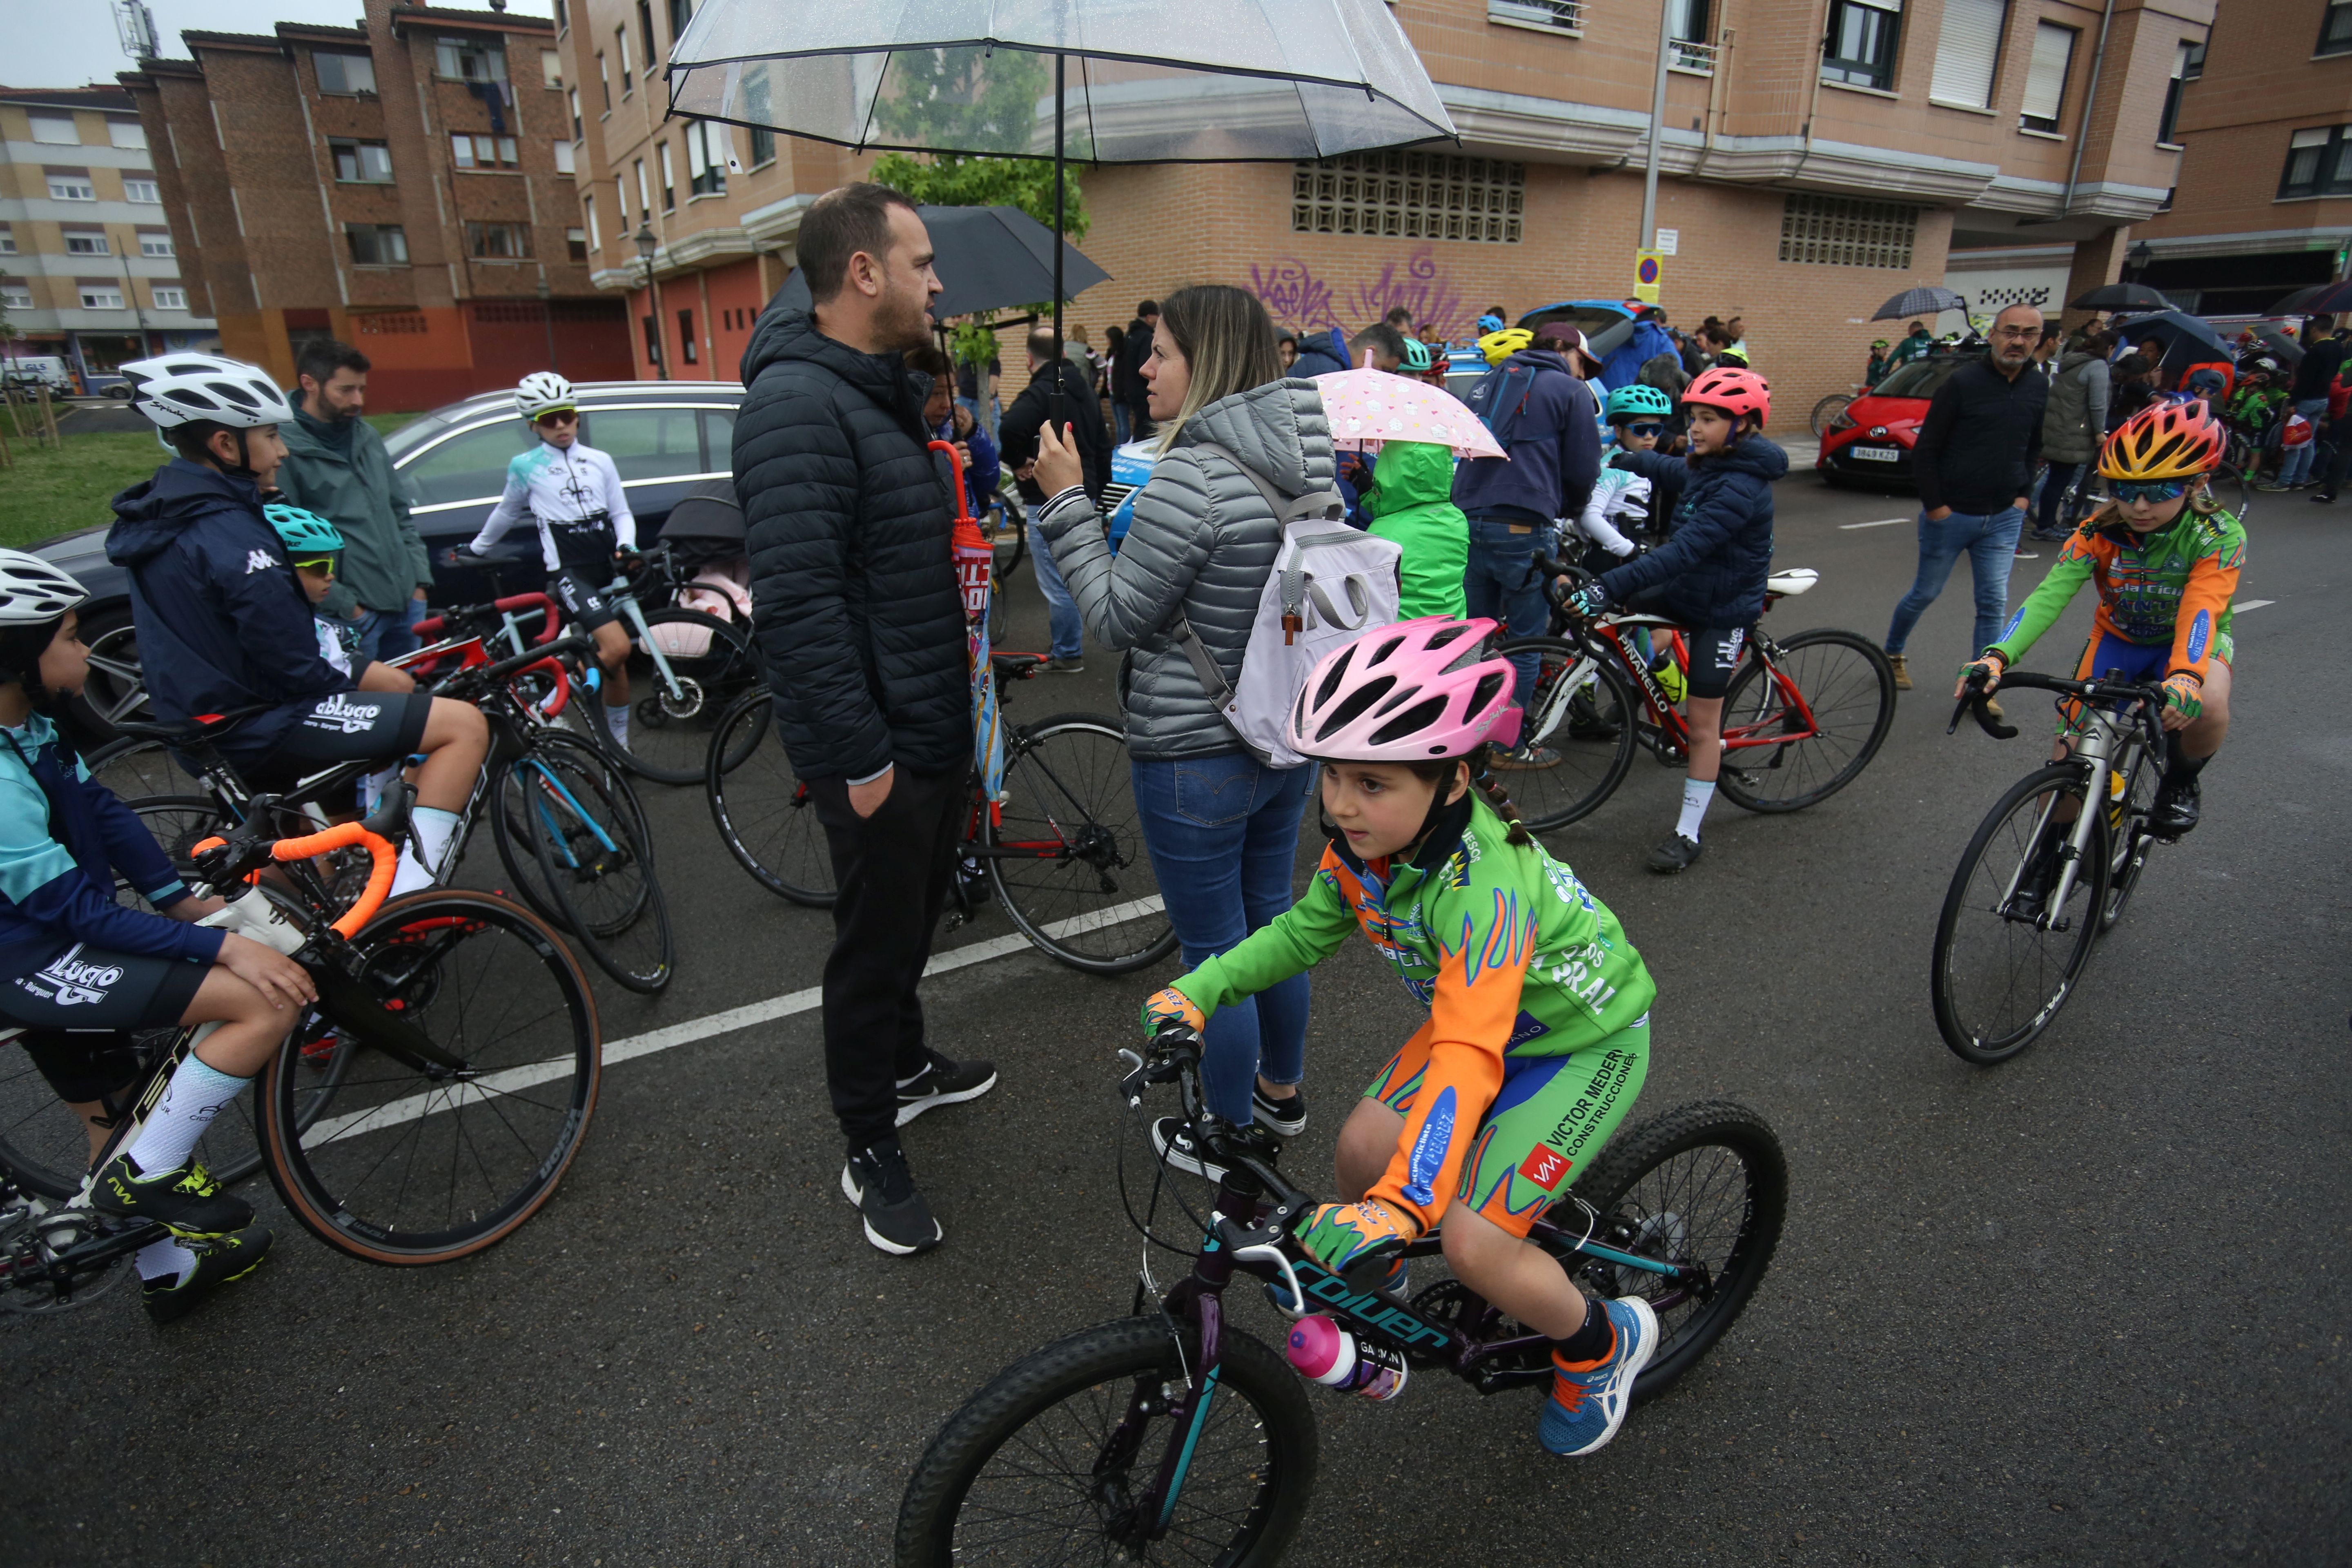
[[[1691,670],[1684,722],[1691,769],[1682,780],[1675,837],[1649,856],[1649,870],[1672,875],[1698,860],[1698,825],[1715,802],[1724,764],[1724,691],[1738,670],[1748,628],[1764,614],[1771,571],[1771,484],[1788,454],[1764,440],[1771,386],[1745,369],[1715,367],[1682,395],[1691,416],[1689,480],[1668,541],[1602,574],[1569,597],[1569,609],[1597,616],[1611,604],[1668,616],[1689,632]],[[1625,454],[1635,473],[1668,458]]]

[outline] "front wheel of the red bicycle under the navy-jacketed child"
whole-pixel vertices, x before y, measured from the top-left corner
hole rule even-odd
[[[1517,637],[1505,656],[1536,656],[1536,686],[1519,729],[1531,762],[1494,759],[1496,776],[1536,832],[1590,816],[1632,766],[1642,701],[1613,658],[1595,658],[1562,637]]]

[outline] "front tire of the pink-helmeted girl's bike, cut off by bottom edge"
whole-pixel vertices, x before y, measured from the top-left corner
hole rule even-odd
[[[1216,1396],[1240,1394],[1258,1413],[1268,1443],[1272,1493],[1244,1519],[1235,1540],[1249,1537],[1235,1554],[1218,1556],[1228,1568],[1270,1568],[1289,1549],[1308,1500],[1315,1493],[1317,1434],[1315,1410],[1298,1373],[1261,1340],[1225,1321]],[[1181,1354],[1178,1354],[1181,1352]],[[988,1460],[1030,1420],[1087,1389],[1122,1378],[1164,1373],[1181,1380],[1200,1366],[1200,1342],[1190,1326],[1183,1340],[1169,1335],[1167,1319],[1131,1316],[1082,1328],[1065,1340],[1021,1356],[988,1387],[964,1401],[922,1450],[898,1502],[896,1568],[950,1568],[955,1563],[955,1521],[971,1483]],[[1211,1406],[1211,1418],[1216,1415]],[[1164,1432],[1152,1429],[1134,1458],[1136,1469],[1157,1467]],[[1178,1509],[1183,1497],[1178,1497]],[[1070,1561],[1070,1559],[1054,1559]]]

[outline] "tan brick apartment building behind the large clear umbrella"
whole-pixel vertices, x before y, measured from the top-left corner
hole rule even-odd
[[[1658,188],[1675,252],[1663,303],[1682,324],[1745,315],[1759,369],[1795,407],[1853,378],[1886,331],[1865,317],[1943,280],[1955,235],[2063,244],[2082,287],[2114,277],[2129,226],[2180,183],[2161,120],[2180,45],[2201,42],[2213,16],[2213,0],[1668,5],[1679,40]],[[595,277],[633,289],[640,324],[652,317],[633,242],[649,228],[668,369],[729,376],[790,263],[800,212],[868,160],[663,125],[659,63],[691,0],[560,0],[560,12],[595,132],[581,162]],[[1294,327],[1352,329],[1402,303],[1451,336],[1494,303],[1630,294],[1658,12],[1623,0],[1397,0],[1392,12],[1463,146],[1087,169],[1087,254],[1112,282],[1073,320],[1096,343],[1136,299],[1181,282],[1256,289]],[[635,350],[642,367],[647,346]]]

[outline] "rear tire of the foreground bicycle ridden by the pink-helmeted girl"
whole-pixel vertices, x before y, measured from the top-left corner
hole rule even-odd
[[[1693,1100],[1677,1105],[1630,1131],[1621,1131],[1592,1161],[1573,1197],[1585,1199],[1604,1218],[1625,1201],[1649,1171],[1686,1150],[1724,1145],[1743,1154],[1748,1166],[1748,1225],[1731,1248],[1731,1265],[1715,1274],[1715,1300],[1691,1319],[1672,1340],[1658,1347],[1649,1366],[1632,1382],[1632,1399],[1642,1403],[1670,1389],[1684,1373],[1715,1349],[1729,1333],[1748,1300],[1764,1281],[1773,1253],[1780,1246],[1780,1227],[1788,1220],[1788,1154],[1780,1135],[1757,1112],[1736,1100]],[[1583,1234],[1583,1211],[1566,1201],[1552,1213],[1552,1222],[1564,1232]]]

